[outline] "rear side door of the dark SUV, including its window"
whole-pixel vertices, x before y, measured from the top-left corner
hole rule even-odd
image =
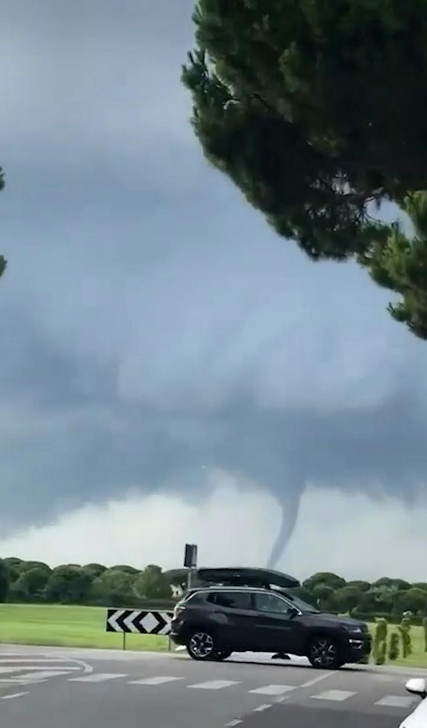
[[[256,612],[250,591],[215,591],[208,597],[215,604],[212,615],[221,641],[235,649],[251,649],[254,641]]]

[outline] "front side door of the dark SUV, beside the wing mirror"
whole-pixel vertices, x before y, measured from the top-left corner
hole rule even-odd
[[[268,591],[255,593],[257,649],[265,652],[300,651],[302,628],[295,607]]]

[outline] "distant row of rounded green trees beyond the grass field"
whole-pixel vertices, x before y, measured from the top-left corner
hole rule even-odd
[[[0,559],[0,602],[138,606],[177,598],[186,583],[185,569],[162,571],[149,565],[138,570],[119,564],[84,566],[68,563],[51,569],[40,561]],[[364,618],[396,617],[410,612],[422,621],[427,616],[427,582],[410,584],[383,577],[370,583],[346,581],[330,572],[314,574],[297,590],[298,596],[319,609]]]

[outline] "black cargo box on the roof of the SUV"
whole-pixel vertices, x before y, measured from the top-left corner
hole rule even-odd
[[[247,569],[246,567],[226,567],[224,569],[199,569],[197,576],[202,582],[211,585],[234,587],[279,587],[291,589],[299,587],[300,582],[289,574],[272,569]]]

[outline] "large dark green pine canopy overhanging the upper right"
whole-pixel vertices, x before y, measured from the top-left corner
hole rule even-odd
[[[199,0],[193,21],[209,161],[308,256],[366,266],[427,339],[427,0]]]

